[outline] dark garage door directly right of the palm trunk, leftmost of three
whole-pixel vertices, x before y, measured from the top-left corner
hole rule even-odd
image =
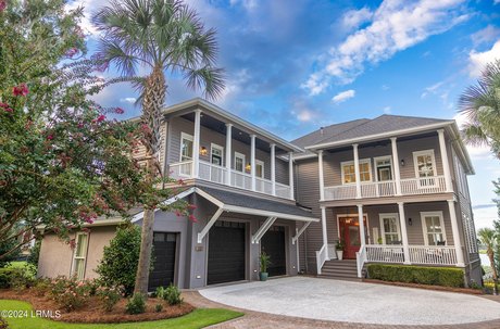
[[[154,268],[149,275],[149,291],[174,282],[177,233],[153,233]]]

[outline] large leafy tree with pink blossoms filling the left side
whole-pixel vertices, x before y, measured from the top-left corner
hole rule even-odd
[[[61,0],[0,0],[0,242],[11,245],[0,262],[40,226],[74,245],[72,229],[176,193],[154,189],[132,156],[148,128],[108,119],[124,111],[89,99],[121,79],[103,80],[95,73],[105,63],[78,59],[80,17]],[[168,208],[188,215],[185,203]]]

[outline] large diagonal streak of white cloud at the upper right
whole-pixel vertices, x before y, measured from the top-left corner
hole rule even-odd
[[[336,78],[341,84],[352,83],[364,71],[366,64],[376,64],[427,39],[441,34],[468,18],[461,14],[460,4],[464,0],[385,0],[373,13],[371,23],[365,28],[349,35],[338,47],[333,47],[325,68],[314,73],[316,84],[302,86],[315,88],[317,81]],[[343,16],[349,18],[351,12]],[[348,20],[349,21],[349,20]],[[320,91],[320,92],[321,92]]]

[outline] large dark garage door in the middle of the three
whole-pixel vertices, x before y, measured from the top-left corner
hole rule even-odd
[[[207,283],[245,280],[245,223],[216,222],[210,229]]]

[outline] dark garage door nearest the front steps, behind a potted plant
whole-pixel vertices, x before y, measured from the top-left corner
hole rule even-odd
[[[287,274],[285,227],[271,227],[261,239],[261,251],[265,251],[265,253],[271,256],[272,264],[267,267],[270,277],[284,276]]]

